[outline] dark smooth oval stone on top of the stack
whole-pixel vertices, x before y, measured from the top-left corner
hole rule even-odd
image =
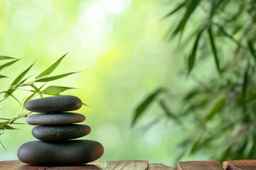
[[[82,107],[82,101],[76,96],[53,96],[28,101],[25,108],[33,112],[75,111]]]

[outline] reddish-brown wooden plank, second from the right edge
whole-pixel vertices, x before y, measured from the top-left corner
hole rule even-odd
[[[177,170],[223,170],[220,162],[178,162]]]

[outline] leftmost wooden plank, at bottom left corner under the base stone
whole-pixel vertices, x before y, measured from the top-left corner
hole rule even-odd
[[[28,164],[23,164],[20,161],[6,161],[0,162],[0,169],[3,170],[45,170],[48,169],[48,166],[31,166]]]

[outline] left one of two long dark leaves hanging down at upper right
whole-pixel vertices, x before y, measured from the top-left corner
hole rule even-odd
[[[195,60],[196,60],[196,52],[197,52],[197,48],[198,48],[198,43],[199,43],[201,35],[203,34],[203,31],[205,29],[206,29],[206,27],[203,27],[200,30],[200,32],[198,33],[198,35],[196,36],[196,41],[195,41],[195,43],[193,45],[193,49],[192,49],[191,55],[189,55],[189,57],[188,57],[188,74],[191,72],[191,70],[194,67]]]

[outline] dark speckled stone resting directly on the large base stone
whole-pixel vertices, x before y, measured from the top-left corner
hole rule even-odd
[[[90,133],[87,125],[40,125],[32,130],[32,134],[38,140],[70,140],[83,137]]]

